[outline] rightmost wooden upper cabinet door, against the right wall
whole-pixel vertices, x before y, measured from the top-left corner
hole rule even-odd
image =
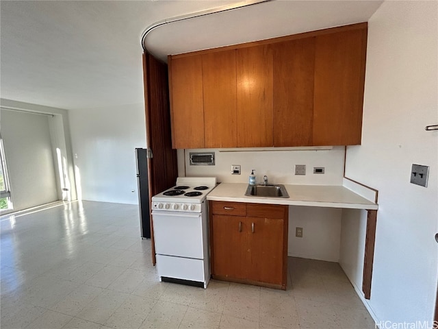
[[[316,36],[313,145],[361,143],[367,29]]]

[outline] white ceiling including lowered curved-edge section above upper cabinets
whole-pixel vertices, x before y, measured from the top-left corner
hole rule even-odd
[[[142,103],[147,27],[237,2],[1,1],[1,98],[68,110]],[[160,25],[146,35],[146,47],[165,59],[168,53],[359,23],[381,3],[259,3]]]

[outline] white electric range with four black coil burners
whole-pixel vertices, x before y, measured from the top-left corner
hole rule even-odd
[[[181,177],[152,197],[153,235],[160,281],[207,288],[210,278],[207,194],[216,178]]]

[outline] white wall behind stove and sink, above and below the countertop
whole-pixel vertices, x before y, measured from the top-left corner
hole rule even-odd
[[[190,152],[202,149],[179,150],[179,175],[216,176],[219,182],[248,183],[251,169],[257,182],[268,175],[278,184],[342,185],[344,147],[278,149],[208,149],[215,152],[214,166],[190,166]],[[185,161],[184,161],[185,160]],[[241,175],[231,175],[231,164],[240,164]],[[306,164],[307,175],[295,175],[295,164]],[[313,174],[313,167],[325,167],[324,175]],[[287,254],[302,258],[339,261],[342,210],[335,208],[289,207],[289,239]],[[303,228],[302,238],[295,228]]]

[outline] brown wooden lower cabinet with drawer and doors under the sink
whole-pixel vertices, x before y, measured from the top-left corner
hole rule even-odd
[[[210,202],[209,208],[213,278],[285,290],[288,206]]]

